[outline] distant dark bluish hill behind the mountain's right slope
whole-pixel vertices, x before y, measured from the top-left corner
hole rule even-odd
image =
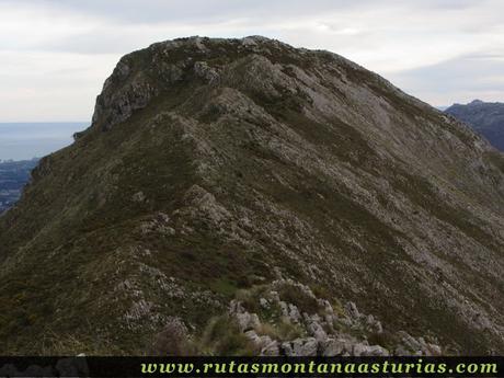
[[[504,103],[474,100],[467,105],[451,105],[445,112],[472,126],[504,151]]]

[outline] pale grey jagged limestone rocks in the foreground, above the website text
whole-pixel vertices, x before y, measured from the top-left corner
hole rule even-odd
[[[278,289],[300,290],[298,300],[313,301],[316,307],[309,312],[300,311],[298,306],[280,299]],[[327,299],[317,298],[311,289],[293,280],[276,280],[265,291],[265,297],[259,299],[262,312],[272,318],[274,310],[277,322],[284,322],[299,328],[301,336],[294,340],[278,340],[264,335],[264,324],[256,313],[250,313],[239,300],[233,300],[229,312],[238,323],[239,331],[260,350],[265,356],[389,356],[389,355],[440,355],[442,348],[427,343],[424,337],[413,337],[404,331],[388,335],[388,348],[382,345],[370,345],[369,340],[383,336],[381,322],[371,314],[360,313],[354,302],[347,302],[336,311]],[[263,293],[264,293],[263,291]],[[302,298],[302,299],[300,299]],[[250,299],[249,299],[250,300]],[[339,302],[336,302],[339,306]],[[260,310],[260,311],[261,311]],[[314,312],[314,313],[312,313]],[[267,321],[267,320],[266,320]],[[259,334],[257,334],[259,333]],[[386,337],[382,337],[386,339]],[[382,341],[381,341],[382,342]],[[396,345],[391,345],[396,344]]]

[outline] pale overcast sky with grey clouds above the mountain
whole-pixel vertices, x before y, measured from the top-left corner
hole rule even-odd
[[[255,34],[343,55],[433,105],[504,101],[502,0],[0,0],[0,122],[88,121],[122,55]]]

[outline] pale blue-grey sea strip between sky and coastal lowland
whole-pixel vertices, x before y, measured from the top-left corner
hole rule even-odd
[[[73,141],[72,135],[89,122],[0,123],[0,160],[31,160]]]

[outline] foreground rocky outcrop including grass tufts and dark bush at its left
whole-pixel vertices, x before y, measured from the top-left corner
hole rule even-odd
[[[226,323],[225,331],[216,331],[219,322]],[[156,337],[152,351],[160,355],[215,355],[226,350],[228,354],[325,357],[449,353],[436,344],[437,340],[427,339],[429,342],[404,331],[385,331],[379,320],[362,313],[354,302],[331,303],[308,286],[277,279],[241,290],[228,313],[209,321],[203,337],[191,334],[183,320],[171,319]]]

